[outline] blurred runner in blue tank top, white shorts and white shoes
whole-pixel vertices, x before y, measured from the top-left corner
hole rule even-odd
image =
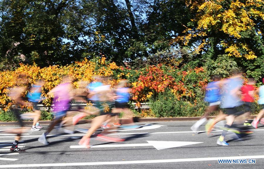
[[[206,121],[206,117],[213,111],[215,111],[220,102],[220,80],[219,76],[213,75],[212,80],[207,84],[204,101],[209,103],[207,111],[194,125],[192,125],[191,130],[194,132],[199,131],[199,127]],[[220,110],[221,111],[221,110]]]

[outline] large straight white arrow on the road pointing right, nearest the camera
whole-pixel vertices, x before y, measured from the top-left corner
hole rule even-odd
[[[91,148],[103,148],[103,147],[136,147],[136,146],[153,146],[157,150],[168,149],[172,147],[187,146],[191,144],[199,144],[203,142],[167,142],[167,141],[147,141],[148,143],[141,144],[102,144],[102,145],[90,145]],[[70,146],[70,148],[85,148],[85,146]]]

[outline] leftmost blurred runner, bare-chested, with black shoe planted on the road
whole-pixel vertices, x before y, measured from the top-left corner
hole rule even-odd
[[[10,148],[11,152],[24,152],[26,150],[18,148],[18,142],[21,138],[21,133],[23,132],[24,125],[22,123],[21,116],[19,114],[19,105],[28,107],[31,106],[30,103],[26,103],[23,101],[22,93],[27,89],[26,84],[28,83],[27,76],[26,75],[18,75],[18,78],[16,80],[16,86],[10,89],[9,97],[11,100],[16,104],[16,107],[11,107],[13,109],[13,113],[18,119],[18,123],[20,125],[20,129],[14,131],[17,135],[15,137],[15,142],[13,142],[13,145]]]

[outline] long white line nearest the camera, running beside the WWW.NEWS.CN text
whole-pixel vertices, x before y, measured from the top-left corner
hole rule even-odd
[[[138,160],[138,161],[101,161],[101,162],[86,162],[86,163],[48,163],[48,164],[13,164],[0,165],[0,168],[15,168],[15,167],[54,167],[54,166],[80,166],[80,165],[118,165],[118,164],[144,164],[144,163],[175,163],[175,162],[190,162],[190,161],[216,161],[229,159],[256,159],[264,158],[260,156],[233,156],[233,157],[209,157],[209,158],[180,158],[180,159],[165,159],[165,160]]]

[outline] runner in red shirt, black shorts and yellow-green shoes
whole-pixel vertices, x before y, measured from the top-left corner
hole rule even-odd
[[[254,102],[254,85],[255,81],[253,78],[248,79],[248,83],[241,87],[242,101],[244,101],[244,109],[246,111],[246,116],[249,117],[251,113],[251,106]],[[251,126],[248,123],[248,119],[245,120],[244,126]]]

